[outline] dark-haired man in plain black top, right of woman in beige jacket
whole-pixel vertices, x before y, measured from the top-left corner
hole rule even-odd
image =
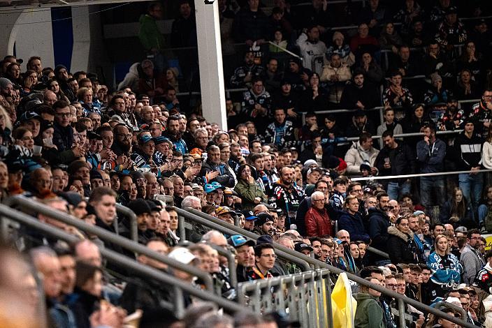
[[[369,109],[381,105],[378,91],[360,68],[354,70],[352,81],[347,83],[340,98],[340,107],[347,110]]]

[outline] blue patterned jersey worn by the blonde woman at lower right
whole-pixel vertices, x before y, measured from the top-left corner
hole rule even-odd
[[[447,255],[447,261],[449,265],[443,266],[443,259],[440,255],[433,252],[427,259],[427,266],[431,268],[432,276],[431,281],[437,283],[437,285],[443,285],[444,283],[460,283],[461,274],[463,274],[463,267],[458,261],[458,258],[454,254],[449,253]]]

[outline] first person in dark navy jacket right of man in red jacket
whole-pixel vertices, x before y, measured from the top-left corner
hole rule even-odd
[[[344,211],[338,218],[338,229],[347,230],[352,240],[361,240],[368,243],[369,234],[364,228],[361,215],[359,214],[359,200],[354,195],[345,198]]]

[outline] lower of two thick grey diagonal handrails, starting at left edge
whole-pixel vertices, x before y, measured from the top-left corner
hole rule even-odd
[[[68,243],[76,243],[77,241],[80,240],[78,239],[78,237],[68,234],[63,230],[59,230],[59,228],[55,228],[54,226],[48,225],[47,223],[42,223],[41,221],[38,221],[36,218],[28,216],[27,214],[24,214],[21,211],[10,209],[9,207],[6,207],[3,204],[0,204],[0,216],[8,217],[10,218],[10,220],[20,222],[24,225],[29,225],[31,228],[35,228],[36,230],[40,230],[46,234],[50,234],[52,237],[67,241]],[[213,294],[212,292],[205,292],[203,290],[199,290],[197,288],[192,287],[189,283],[184,283],[178,278],[164,274],[164,272],[162,271],[159,271],[152,267],[147,267],[146,265],[143,265],[140,262],[136,262],[136,260],[131,260],[126,256],[116,253],[115,251],[110,251],[104,248],[103,246],[98,246],[98,247],[99,247],[99,251],[101,252],[101,255],[103,255],[103,257],[106,258],[109,262],[120,264],[123,267],[130,269],[131,271],[136,271],[139,274],[144,274],[149,278],[155,279],[157,281],[161,281],[161,283],[166,283],[167,285],[178,287],[180,288],[180,290],[184,290],[189,294],[194,295],[198,298],[214,301],[215,303],[217,303],[219,306],[223,307],[227,311],[238,312],[244,310],[242,306],[239,306],[238,304],[232,301],[228,301],[222,297],[219,297]],[[151,253],[155,253],[155,252],[151,252]],[[154,258],[154,255],[150,254],[150,257]],[[179,303],[182,303],[182,300],[176,300],[175,305],[178,306]],[[182,315],[182,313],[180,314]]]

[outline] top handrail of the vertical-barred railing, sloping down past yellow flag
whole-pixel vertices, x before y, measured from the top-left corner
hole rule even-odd
[[[376,285],[374,283],[371,283],[370,281],[366,281],[365,279],[363,279],[359,276],[356,276],[354,274],[350,274],[349,272],[343,271],[342,269],[338,269],[337,267],[332,267],[332,266],[328,266],[327,269],[317,269],[315,271],[303,272],[300,274],[293,274],[293,275],[290,275],[289,277],[280,276],[280,277],[274,277],[274,278],[270,278],[270,279],[261,279],[261,280],[256,280],[256,281],[249,281],[249,282],[245,282],[245,283],[240,283],[239,288],[238,288],[238,292],[239,292],[238,293],[238,299],[240,302],[243,302],[243,304],[245,304],[245,295],[247,294],[247,292],[251,292],[251,291],[255,291],[255,290],[256,291],[265,290],[268,292],[268,290],[270,290],[274,286],[281,285],[282,282],[285,281],[285,279],[292,279],[293,281],[296,281],[296,279],[301,280],[301,281],[305,281],[307,279],[313,280],[316,276],[321,276],[321,277],[328,276],[328,279],[329,279],[330,273],[333,273],[333,274],[345,273],[345,274],[347,274],[347,277],[349,278],[349,280],[354,281],[354,282],[358,283],[359,285],[367,286],[368,288],[371,288],[372,290],[377,290],[378,292],[381,292],[382,294],[389,296],[393,299],[398,299],[399,302],[404,302],[406,304],[410,304],[411,306],[413,306],[414,308],[417,308],[420,311],[424,311],[426,313],[433,313],[433,315],[436,315],[439,318],[444,318],[446,320],[454,322],[458,325],[461,325],[461,327],[477,328],[476,326],[470,324],[469,322],[458,319],[458,318],[451,316],[447,313],[443,313],[442,311],[440,311],[436,308],[422,304],[419,301],[415,301],[414,299],[410,299],[410,297],[406,297],[405,295],[400,295],[396,292],[393,292],[392,290],[388,290],[388,289],[382,287],[381,285]],[[329,281],[327,284],[329,284]],[[331,292],[329,290],[328,290],[328,293],[331,294]],[[331,299],[329,301],[331,301]],[[403,316],[400,315],[400,318],[401,317],[403,317]],[[403,327],[405,327],[405,326],[403,326]]]

